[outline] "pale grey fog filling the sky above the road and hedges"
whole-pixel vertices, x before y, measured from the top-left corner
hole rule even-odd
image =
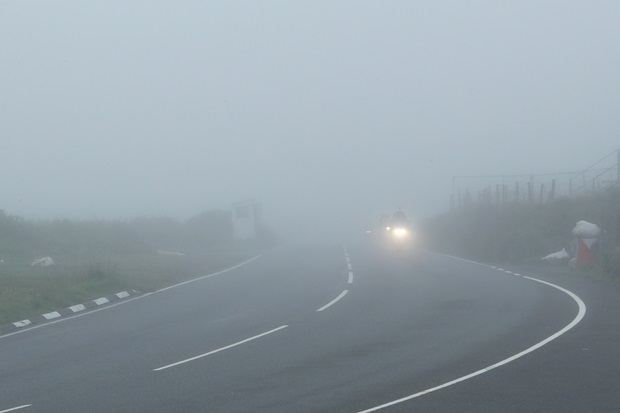
[[[446,211],[616,149],[615,1],[0,2],[0,209],[280,232]]]

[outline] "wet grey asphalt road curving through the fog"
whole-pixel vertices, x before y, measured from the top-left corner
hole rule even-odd
[[[588,300],[523,275],[423,250],[282,247],[0,337],[0,412],[617,411],[617,357],[584,350]]]

